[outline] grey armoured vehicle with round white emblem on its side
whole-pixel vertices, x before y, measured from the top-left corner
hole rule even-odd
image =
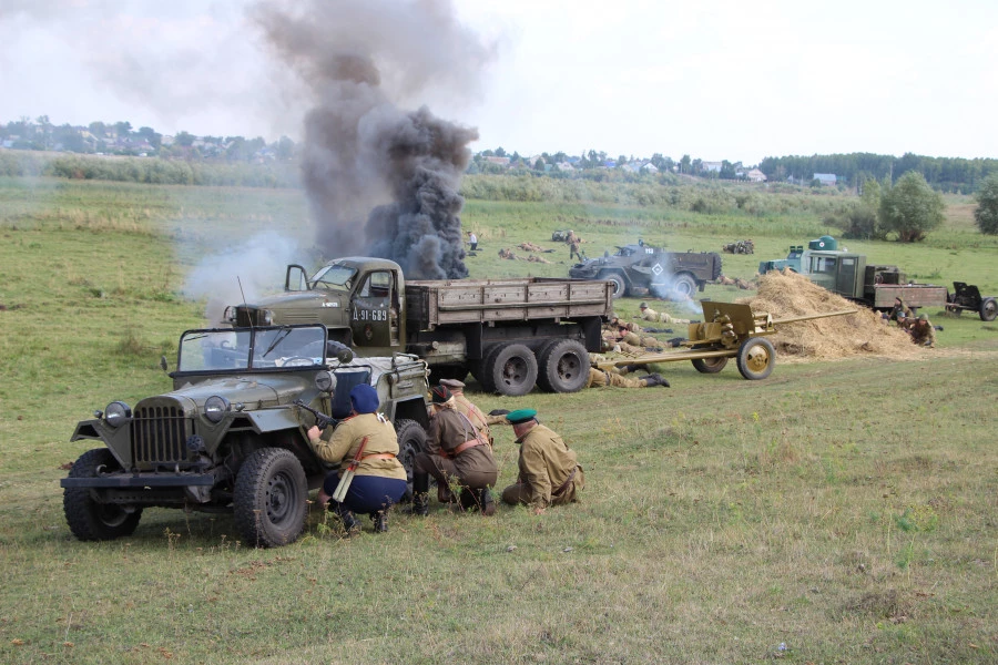
[[[605,279],[613,297],[639,291],[662,296],[669,291],[692,297],[721,276],[721,255],[715,252],[666,252],[639,242],[617,248],[613,255],[590,258],[569,268],[569,277]]]

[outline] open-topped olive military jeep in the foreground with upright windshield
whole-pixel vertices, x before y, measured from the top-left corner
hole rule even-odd
[[[167,369],[165,357],[163,369]],[[268,548],[302,533],[309,489],[333,467],[306,432],[350,412],[349,391],[374,386],[410,474],[426,444],[427,366],[416,356],[357,358],[322,325],[187,330],[173,390],[132,409],[112,401],[77,426],[84,452],[61,481],[65,519],[83,541],[131,535],[150,507],[231,511],[244,543]]]

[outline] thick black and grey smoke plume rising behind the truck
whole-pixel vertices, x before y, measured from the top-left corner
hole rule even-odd
[[[490,49],[449,0],[269,1],[254,17],[314,103],[303,180],[323,249],[391,258],[409,278],[466,277],[458,190],[478,132],[398,104],[469,94]]]

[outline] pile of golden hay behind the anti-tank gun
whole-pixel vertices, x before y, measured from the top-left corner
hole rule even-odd
[[[880,315],[851,303],[790,270],[772,272],[758,278],[758,293],[742,298],[756,314],[768,311],[774,319],[857,309],[856,314],[813,321],[777,325],[770,337],[782,360],[831,360],[854,356],[921,358],[930,349],[917,347],[896,326],[885,326]]]

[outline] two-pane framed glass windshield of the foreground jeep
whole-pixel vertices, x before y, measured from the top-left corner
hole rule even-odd
[[[232,371],[322,367],[322,326],[189,330],[181,336],[177,371]]]

